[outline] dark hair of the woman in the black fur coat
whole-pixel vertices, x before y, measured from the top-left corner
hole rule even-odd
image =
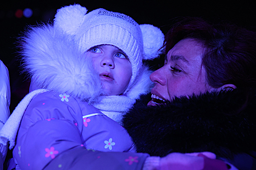
[[[166,54],[182,39],[205,47],[202,66],[212,87],[234,84],[256,87],[256,34],[233,24],[210,24],[202,18],[183,18],[166,34]]]

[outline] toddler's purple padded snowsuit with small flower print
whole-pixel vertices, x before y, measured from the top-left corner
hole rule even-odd
[[[16,169],[142,169],[149,155],[134,151],[117,122],[87,102],[48,91],[29,103],[13,155]]]

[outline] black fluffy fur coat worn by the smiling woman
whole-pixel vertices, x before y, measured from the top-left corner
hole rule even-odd
[[[222,158],[255,150],[255,90],[212,92],[147,106],[142,96],[123,119],[137,151],[151,156],[209,151]]]

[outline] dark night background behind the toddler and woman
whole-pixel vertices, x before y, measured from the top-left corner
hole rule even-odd
[[[20,74],[20,61],[17,60],[17,37],[28,25],[41,22],[51,22],[58,8],[78,3],[89,11],[105,8],[109,11],[121,12],[131,16],[139,24],[147,23],[159,27],[164,34],[175,22],[176,17],[197,16],[212,22],[229,21],[239,26],[256,30],[256,5],[254,1],[14,1],[1,3],[1,53],[0,59],[8,67],[11,83],[12,111],[20,100],[28,93],[29,81]],[[33,15],[30,18],[15,17],[17,9],[31,8]]]

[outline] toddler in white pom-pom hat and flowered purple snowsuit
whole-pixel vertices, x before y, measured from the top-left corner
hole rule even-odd
[[[163,34],[117,12],[86,13],[78,4],[61,8],[53,25],[33,27],[23,37],[31,92],[10,118],[17,133],[0,133],[10,148],[16,142],[16,169],[77,169],[88,162],[94,162],[89,169],[115,169],[120,160],[132,168],[142,167],[148,157],[121,153],[135,147],[119,123],[135,99],[150,91],[151,72],[142,59],[160,54]]]

